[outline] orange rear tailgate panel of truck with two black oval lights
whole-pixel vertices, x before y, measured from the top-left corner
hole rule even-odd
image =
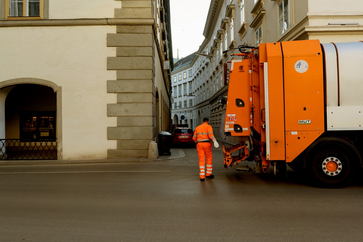
[[[249,60],[232,60],[224,132],[250,136]]]

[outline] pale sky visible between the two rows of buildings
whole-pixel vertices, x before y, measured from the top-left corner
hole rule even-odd
[[[211,0],[170,0],[173,57],[196,52],[204,41],[203,30]]]

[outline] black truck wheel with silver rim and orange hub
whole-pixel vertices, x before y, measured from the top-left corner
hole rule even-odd
[[[318,142],[307,154],[307,175],[317,186],[340,188],[347,185],[355,173],[355,148],[348,142],[334,138]]]

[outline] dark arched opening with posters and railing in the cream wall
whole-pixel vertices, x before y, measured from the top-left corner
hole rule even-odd
[[[29,78],[30,80],[34,80]],[[0,82],[0,159],[50,160],[58,157],[57,91],[28,78]],[[60,87],[54,83],[41,80]],[[11,85],[11,83],[13,85]]]

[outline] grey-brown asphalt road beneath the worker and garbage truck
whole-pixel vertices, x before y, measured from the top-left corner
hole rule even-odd
[[[172,149],[172,152],[175,150]],[[185,157],[0,167],[0,241],[363,241],[363,185],[310,186],[296,172],[240,173],[213,148],[214,179]]]

